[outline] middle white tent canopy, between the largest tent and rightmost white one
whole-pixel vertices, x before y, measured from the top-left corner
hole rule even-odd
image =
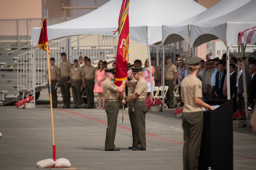
[[[191,18],[177,22],[172,25],[163,25],[162,38],[163,44],[170,44],[177,41],[185,40],[189,43],[189,25],[194,23],[200,23],[208,21],[214,18],[223,16],[231,11],[237,10],[237,8],[250,2],[251,0],[222,0],[211,8],[195,15]],[[228,8],[227,8],[228,6]],[[210,35],[209,35],[210,36]],[[216,38],[216,36],[212,36]],[[218,39],[218,38],[217,38]]]

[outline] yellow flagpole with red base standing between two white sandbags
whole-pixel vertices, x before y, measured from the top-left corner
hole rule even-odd
[[[47,48],[47,65],[48,65],[48,81],[49,81],[49,92],[50,92],[50,106],[51,106],[51,128],[52,128],[52,141],[53,141],[53,160],[55,161],[56,152],[55,152],[55,143],[54,143],[54,126],[53,126],[53,112],[52,112],[52,97],[51,97],[51,74],[50,74],[50,59],[49,59],[49,48]]]

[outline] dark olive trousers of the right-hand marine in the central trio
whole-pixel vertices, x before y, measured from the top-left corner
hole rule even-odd
[[[129,106],[130,108],[130,106]],[[135,135],[137,147],[146,149],[146,123],[145,117],[147,113],[147,104],[145,101],[134,101],[134,120],[135,120]],[[136,144],[136,141],[134,145]]]

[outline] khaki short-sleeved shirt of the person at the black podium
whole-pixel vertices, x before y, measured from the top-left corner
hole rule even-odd
[[[202,82],[192,74],[189,74],[181,82],[181,97],[184,98],[183,112],[198,112],[202,108],[195,103],[194,98],[202,98]]]

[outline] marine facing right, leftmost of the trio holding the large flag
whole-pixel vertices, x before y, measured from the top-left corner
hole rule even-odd
[[[127,80],[122,81],[122,84],[118,87],[114,85],[111,80],[115,76],[115,68],[104,69],[105,80],[102,84],[103,94],[106,99],[105,112],[107,113],[108,126],[106,129],[105,151],[120,151],[115,147],[115,133],[117,117],[119,112],[119,99],[125,97],[125,93],[122,93],[124,85]],[[117,93],[121,93],[120,95]]]

